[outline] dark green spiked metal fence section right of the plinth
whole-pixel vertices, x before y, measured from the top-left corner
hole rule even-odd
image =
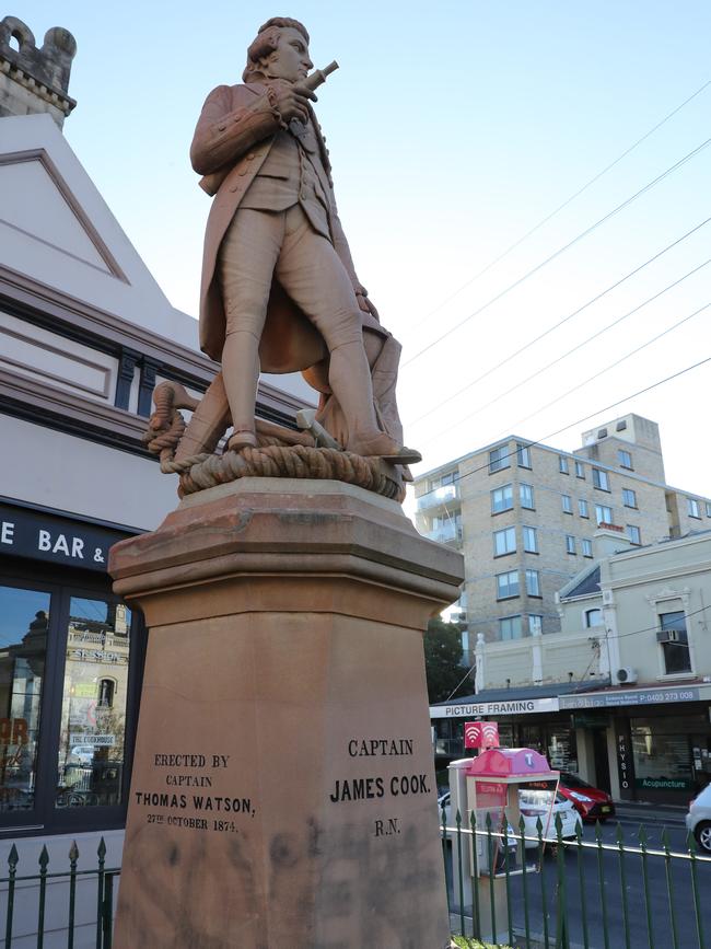
[[[552,836],[540,819],[535,836],[523,818],[518,832],[490,815],[477,828],[474,812],[447,826],[443,811],[453,931],[525,949],[706,949],[711,857],[691,834],[665,829],[652,846],[643,826],[628,843],[620,824],[597,824],[592,836],[579,824],[563,840],[560,818]]]

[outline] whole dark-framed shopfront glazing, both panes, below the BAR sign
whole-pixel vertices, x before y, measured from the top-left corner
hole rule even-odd
[[[107,586],[0,580],[0,832],[124,821],[141,627]]]

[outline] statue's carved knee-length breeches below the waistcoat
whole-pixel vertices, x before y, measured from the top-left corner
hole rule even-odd
[[[246,332],[261,337],[276,278],[329,351],[362,343],[360,309],[346,268],[299,205],[285,211],[238,209],[222,241],[218,274],[226,336]]]

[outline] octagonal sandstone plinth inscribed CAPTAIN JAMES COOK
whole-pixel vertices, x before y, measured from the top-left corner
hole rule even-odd
[[[149,646],[116,949],[448,946],[422,632],[462,557],[336,482],[117,544]]]

